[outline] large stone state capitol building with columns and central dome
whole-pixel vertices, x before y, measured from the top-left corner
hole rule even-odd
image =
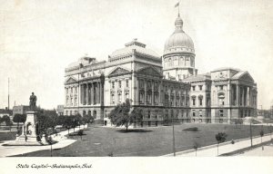
[[[136,39],[108,56],[82,57],[66,68],[66,115],[90,114],[111,125],[107,115],[126,99],[144,112],[134,126],[180,123],[232,123],[254,116],[257,84],[247,71],[219,68],[198,74],[192,39],[177,16],[175,31],[159,56]]]

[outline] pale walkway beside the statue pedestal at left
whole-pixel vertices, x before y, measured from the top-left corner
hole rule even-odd
[[[87,126],[85,126],[86,128]],[[75,131],[83,130],[84,126],[81,125],[79,127],[75,128]],[[74,129],[70,129],[69,133],[72,133]],[[52,135],[53,140],[57,140],[58,142],[56,144],[52,145],[52,149],[61,149],[65,148],[66,146],[74,143],[76,140],[69,140],[66,139],[66,135],[68,134],[68,131],[61,131],[58,133],[58,136]],[[8,156],[14,156],[14,155],[20,155],[24,153],[29,153],[33,151],[38,151],[38,150],[50,150],[51,146],[50,145],[45,145],[45,146],[3,146],[4,144],[8,142],[12,142],[14,140],[5,140],[4,142],[0,143],[0,157],[8,157]]]

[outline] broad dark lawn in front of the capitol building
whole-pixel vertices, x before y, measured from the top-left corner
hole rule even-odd
[[[195,142],[200,147],[216,144],[215,135],[219,131],[227,133],[227,141],[248,138],[249,128],[249,125],[225,124],[176,125],[176,150],[193,149]],[[259,135],[259,131],[262,129],[265,133],[269,132],[266,126],[252,126],[253,136]],[[171,126],[129,130],[128,132],[124,129],[92,126],[84,131],[84,134],[82,140],[79,136],[70,136],[69,139],[76,139],[77,141],[64,149],[54,150],[53,156],[160,156],[172,153],[173,150]],[[23,156],[46,157],[50,156],[50,151],[35,151]]]

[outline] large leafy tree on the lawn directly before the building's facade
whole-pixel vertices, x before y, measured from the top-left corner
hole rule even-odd
[[[126,102],[118,104],[114,110],[110,111],[108,117],[116,126],[125,126],[126,131],[128,131],[129,125],[134,123],[134,121],[142,121],[142,111],[135,109],[129,113],[130,109],[130,101],[126,99]]]

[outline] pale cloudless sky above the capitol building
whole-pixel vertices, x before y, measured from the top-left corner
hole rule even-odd
[[[177,0],[0,0],[0,108],[64,104],[65,68],[85,54],[106,60],[134,38],[159,55],[174,32]],[[258,108],[273,103],[273,1],[182,0],[198,73],[248,71]]]

